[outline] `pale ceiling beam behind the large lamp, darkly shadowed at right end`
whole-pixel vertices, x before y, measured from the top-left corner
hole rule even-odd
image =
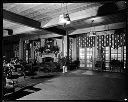
[[[107,5],[111,5],[108,7]],[[108,7],[108,8],[107,8]],[[101,17],[101,16],[108,16],[113,14],[123,14],[126,13],[126,8],[123,7],[123,9],[119,10],[118,7],[116,7],[116,4],[113,2],[106,2],[103,3],[102,6],[92,6],[91,8],[84,9],[75,13],[70,13],[70,20],[71,22],[78,22],[83,19],[91,19],[95,17]],[[104,10],[103,10],[104,9]],[[42,27],[53,27],[53,26],[59,26],[59,16],[51,19],[46,25],[41,25]]]

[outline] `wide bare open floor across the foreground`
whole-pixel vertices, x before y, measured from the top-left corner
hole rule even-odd
[[[24,95],[14,95],[9,100],[123,100],[126,97],[121,73],[81,69],[64,74],[38,73],[20,84],[29,86],[20,90]]]

